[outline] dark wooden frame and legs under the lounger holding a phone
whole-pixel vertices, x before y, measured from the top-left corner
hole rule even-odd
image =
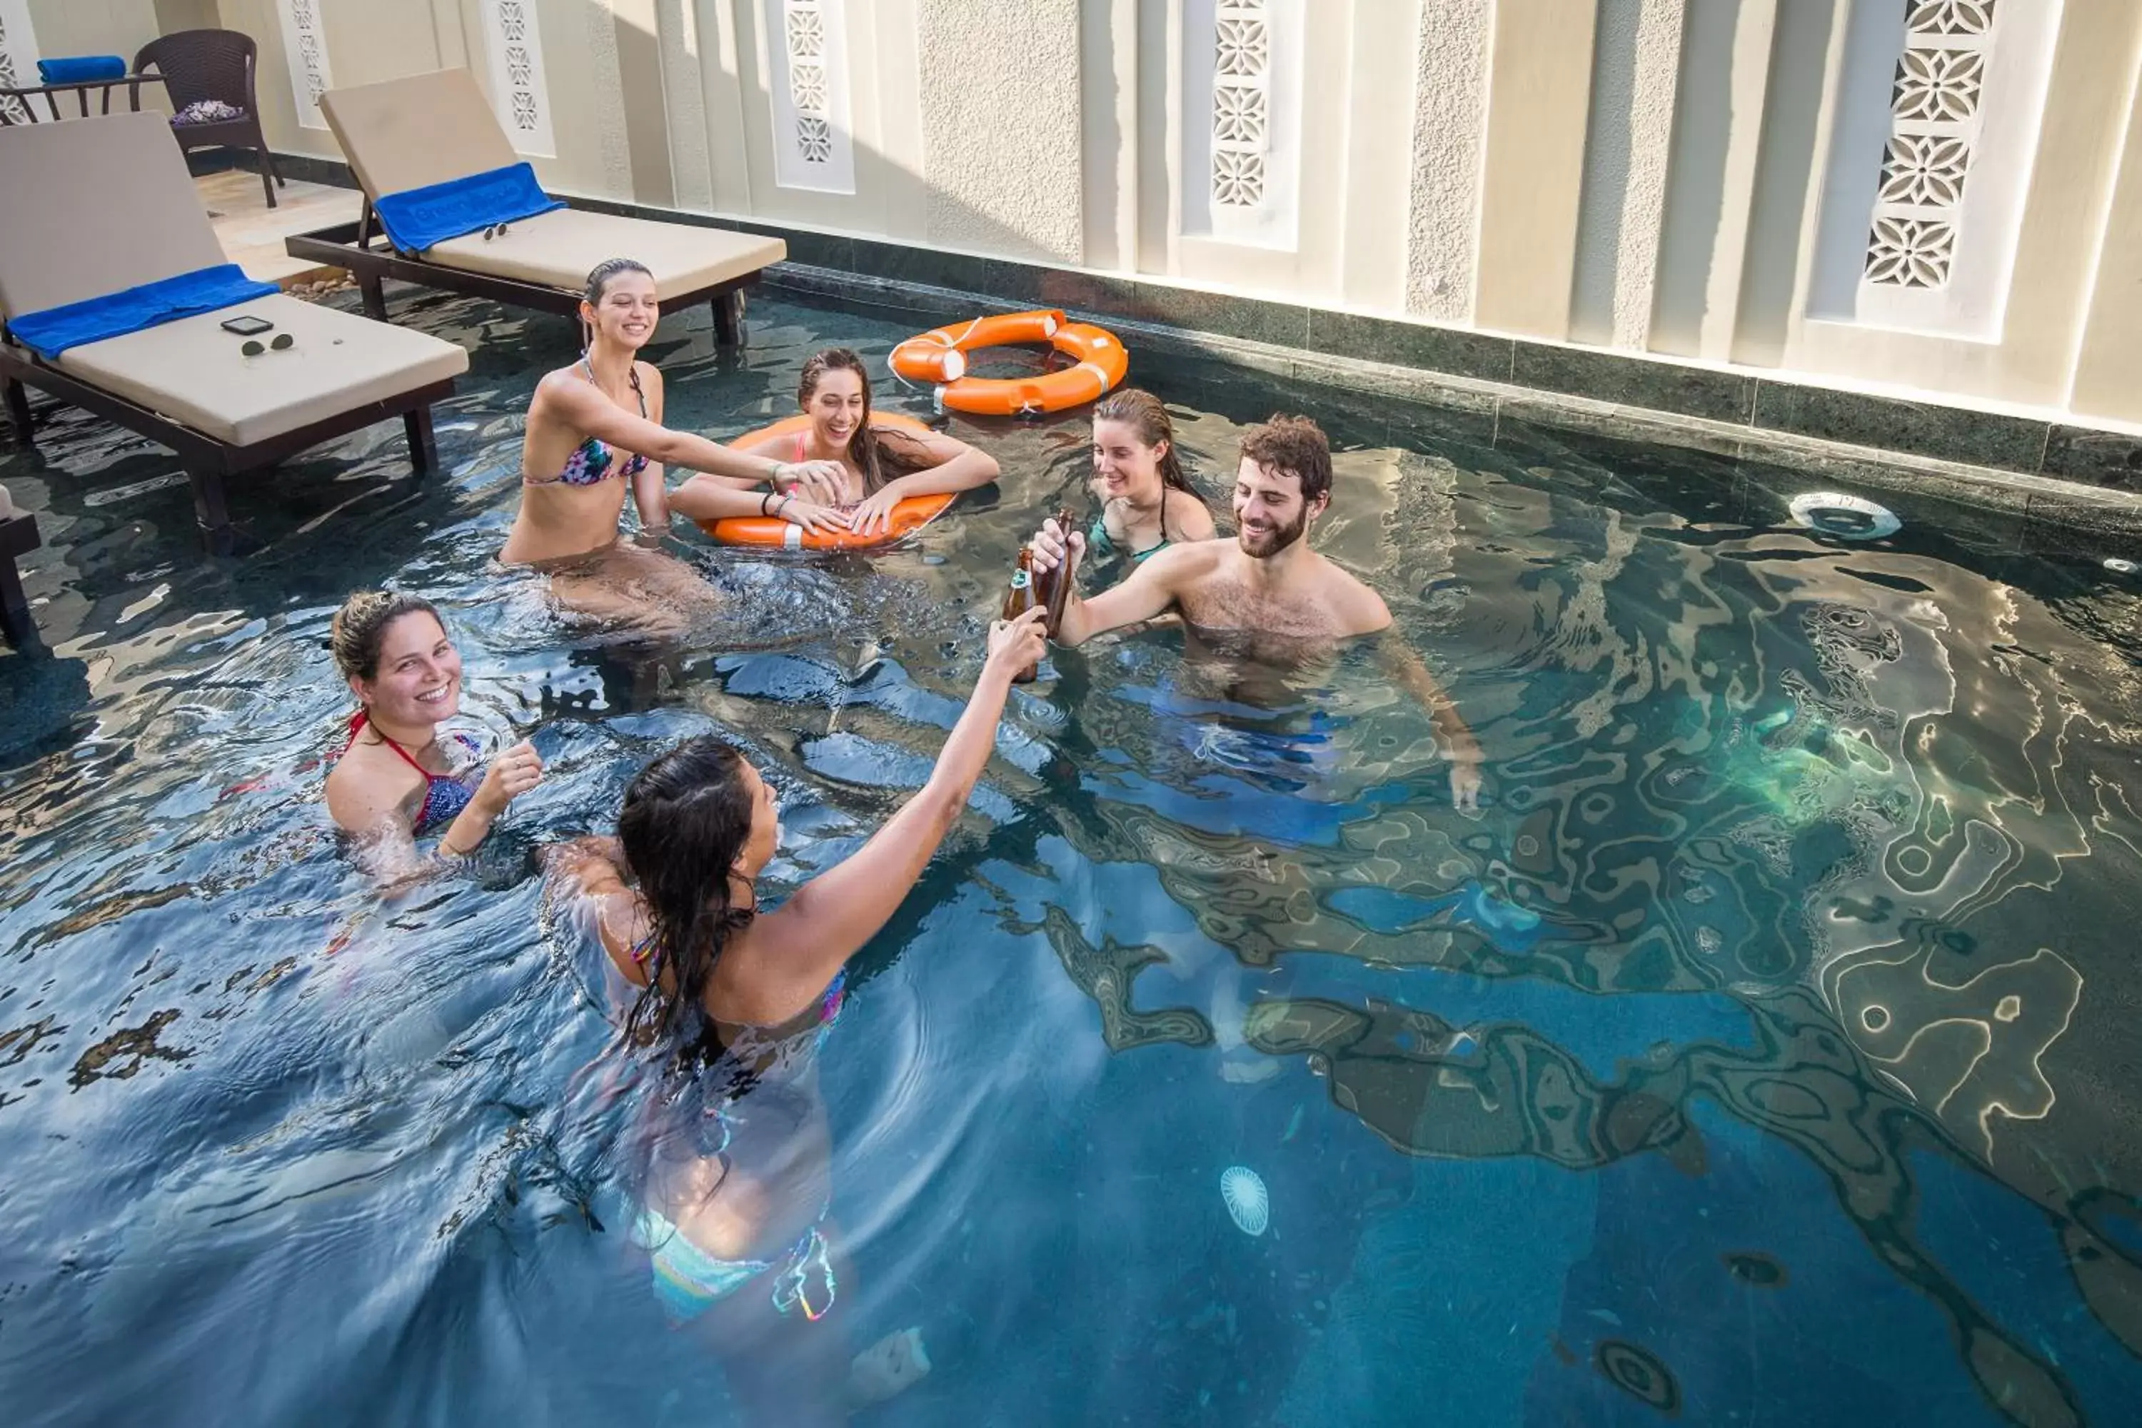
[[[0,328],[0,398],[4,398],[15,439],[28,447],[36,437],[30,428],[30,396],[24,388],[49,392],[64,402],[94,411],[126,430],[141,432],[150,441],[178,452],[180,462],[186,467],[186,480],[193,482],[193,514],[201,525],[201,537],[214,555],[229,555],[231,514],[223,503],[225,475],[261,471],[321,441],[347,437],[353,430],[364,430],[375,422],[396,415],[403,420],[403,430],[409,432],[409,469],[416,475],[424,475],[439,465],[439,447],[431,430],[431,405],[454,394],[454,379],[448,377],[446,381],[433,381],[409,392],[396,392],[377,402],[338,411],[332,417],[311,422],[281,437],[255,441],[253,445],[231,445],[41,362],[34,353],[9,340],[4,328]]]

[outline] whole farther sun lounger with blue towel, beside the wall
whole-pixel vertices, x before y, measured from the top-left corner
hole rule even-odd
[[[512,218],[491,238],[478,214],[456,238],[398,248],[381,227],[381,201],[392,208],[396,195],[450,193],[521,167],[521,156],[465,69],[330,90],[321,111],[364,188],[364,210],[356,223],[300,233],[285,246],[356,274],[364,310],[379,319],[388,315],[383,278],[572,315],[595,263],[632,257],[653,272],[664,306],[711,302],[718,340],[739,343],[743,289],[788,255],[778,238],[578,208]],[[533,176],[527,182],[533,186]]]

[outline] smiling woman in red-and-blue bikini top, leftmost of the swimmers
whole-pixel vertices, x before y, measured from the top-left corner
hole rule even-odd
[[[330,644],[358,713],[328,771],[328,816],[386,876],[420,865],[420,837],[439,835],[448,859],[476,852],[506,805],[542,781],[542,760],[516,743],[478,771],[476,739],[439,736],[461,713],[461,655],[439,610],[416,595],[358,591],[334,614]]]

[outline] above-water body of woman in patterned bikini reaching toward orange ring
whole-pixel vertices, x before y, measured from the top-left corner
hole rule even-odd
[[[655,334],[660,304],[655,280],[632,259],[610,259],[587,274],[580,321],[587,351],[572,366],[536,383],[527,435],[521,443],[521,512],[499,559],[531,565],[593,555],[617,544],[617,522],[632,492],[640,529],[668,527],[664,467],[728,477],[705,497],[715,518],[780,514],[805,529],[846,527],[820,505],[846,482],[840,462],[784,462],[745,456],[692,432],[662,426],[662,373],[638,351]],[[771,480],[801,486],[784,499],[745,486]]]

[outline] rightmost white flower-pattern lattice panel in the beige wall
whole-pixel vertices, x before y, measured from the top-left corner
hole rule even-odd
[[[1909,0],[1864,280],[1945,287],[1983,124],[1994,21],[2016,0]]]

